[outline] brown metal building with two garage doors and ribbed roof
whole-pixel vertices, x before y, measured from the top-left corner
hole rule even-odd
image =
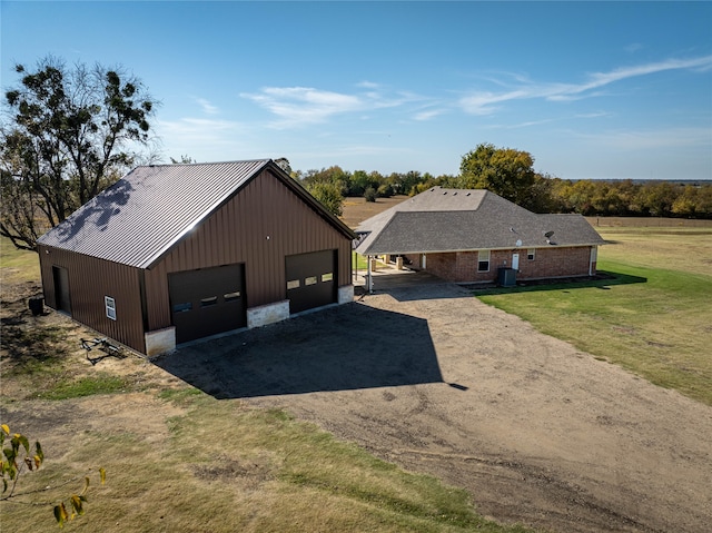
[[[261,159],[138,167],[38,245],[49,307],[156,355],[350,302],[353,238]]]

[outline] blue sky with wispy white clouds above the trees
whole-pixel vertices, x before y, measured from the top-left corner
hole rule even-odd
[[[161,101],[164,159],[712,179],[712,2],[0,3],[1,85],[52,53]]]

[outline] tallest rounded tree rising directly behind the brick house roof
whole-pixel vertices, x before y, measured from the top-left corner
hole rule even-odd
[[[463,156],[459,187],[487,189],[520,206],[525,206],[536,172],[531,154],[482,144]]]

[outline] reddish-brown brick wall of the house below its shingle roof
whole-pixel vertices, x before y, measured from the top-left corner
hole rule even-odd
[[[512,256],[520,255],[517,279],[541,279],[572,276],[587,276],[591,247],[537,248],[534,259],[527,258],[526,249],[492,250],[490,270],[477,272],[477,251],[454,251],[447,254],[427,254],[426,270],[456,283],[496,282],[500,267],[512,267]],[[413,266],[421,267],[421,256],[408,257]],[[595,274],[595,261],[592,273]]]

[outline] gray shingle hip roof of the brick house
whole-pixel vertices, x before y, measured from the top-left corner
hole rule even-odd
[[[581,215],[536,215],[487,190],[441,187],[364,220],[356,233],[365,235],[356,248],[363,255],[605,244]]]

